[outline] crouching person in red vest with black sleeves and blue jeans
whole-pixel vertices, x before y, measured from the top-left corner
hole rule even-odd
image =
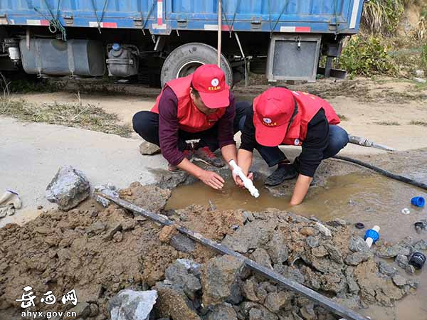
[[[284,87],[271,88],[248,108],[241,127],[238,166],[248,174],[253,149],[257,149],[268,166],[278,166],[265,185],[277,186],[298,176],[290,204],[300,204],[322,159],[334,156],[349,142],[347,132],[337,124],[339,117],[334,109],[320,97]],[[302,151],[291,164],[279,145],[302,146]],[[240,178],[234,179],[242,185]]]

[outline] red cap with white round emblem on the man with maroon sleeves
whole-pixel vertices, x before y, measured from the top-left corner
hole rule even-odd
[[[230,87],[218,65],[201,65],[194,71],[191,83],[206,107],[216,109],[230,105]]]

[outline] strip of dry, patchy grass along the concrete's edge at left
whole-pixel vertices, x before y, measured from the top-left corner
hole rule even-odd
[[[35,105],[25,100],[0,100],[0,114],[27,122],[45,122],[67,127],[89,129],[107,134],[130,137],[130,124],[120,123],[117,114],[107,113],[94,105],[80,103],[45,103]]]

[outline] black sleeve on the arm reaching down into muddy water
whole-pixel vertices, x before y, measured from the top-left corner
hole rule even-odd
[[[314,176],[317,167],[323,159],[323,151],[329,145],[329,122],[325,111],[319,110],[307,125],[307,137],[302,142],[300,159],[300,174]]]

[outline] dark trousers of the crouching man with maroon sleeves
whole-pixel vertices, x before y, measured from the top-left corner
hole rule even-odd
[[[243,124],[240,122],[245,119],[246,108],[251,107],[251,104],[247,102],[236,102],[236,117],[233,122],[233,133],[236,134],[239,131],[240,127],[243,127]],[[159,114],[151,111],[139,111],[137,112],[132,119],[132,124],[135,132],[139,134],[147,142],[152,144],[159,143]],[[201,132],[186,132],[184,130],[179,130],[178,132],[178,149],[184,151],[186,148],[187,140],[200,139],[199,146],[209,146],[212,152],[216,151],[219,148],[218,144],[218,124],[215,124],[214,127],[207,129]]]

